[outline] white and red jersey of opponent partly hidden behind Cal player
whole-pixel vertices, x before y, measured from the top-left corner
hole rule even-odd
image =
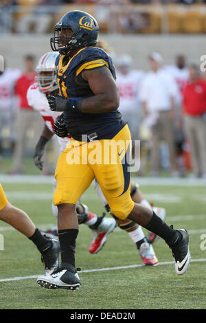
[[[56,121],[56,118],[62,114],[62,112],[50,110],[47,97],[44,93],[39,91],[37,83],[30,85],[29,89],[27,90],[27,101],[30,107],[41,114],[47,128],[54,133],[54,122]],[[60,138],[57,136],[57,138],[58,143],[60,144],[60,151],[64,151],[69,141],[69,137]]]

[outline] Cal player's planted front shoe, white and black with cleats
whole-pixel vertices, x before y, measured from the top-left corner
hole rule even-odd
[[[58,269],[49,276],[39,276],[36,282],[47,289],[69,289],[75,291],[81,286],[78,273],[72,273],[67,269]]]

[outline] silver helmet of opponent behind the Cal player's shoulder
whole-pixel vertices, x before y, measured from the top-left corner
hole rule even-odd
[[[36,66],[37,76],[35,82],[38,84],[39,91],[43,93],[49,93],[58,89],[55,68],[55,61],[58,55],[56,52],[48,52],[40,58]]]

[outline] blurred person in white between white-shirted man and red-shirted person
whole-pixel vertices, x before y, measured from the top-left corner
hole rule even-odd
[[[184,134],[181,122],[182,103],[183,103],[183,89],[189,78],[189,71],[186,66],[185,56],[177,55],[175,58],[175,65],[165,66],[165,70],[174,78],[177,85],[177,93],[175,96],[175,120],[174,120],[174,144],[176,153],[176,167],[179,170],[179,175],[185,175],[185,166],[183,159],[183,145]]]

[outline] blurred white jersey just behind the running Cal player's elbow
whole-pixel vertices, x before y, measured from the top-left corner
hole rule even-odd
[[[144,72],[137,70],[130,71],[126,75],[117,72],[120,112],[139,110],[139,86],[143,76]]]

